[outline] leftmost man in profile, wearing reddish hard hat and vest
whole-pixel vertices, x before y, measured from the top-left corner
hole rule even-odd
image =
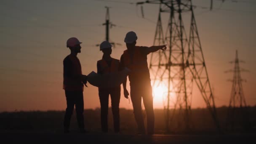
[[[67,109],[64,117],[64,132],[69,132],[70,119],[74,110],[77,114],[77,123],[80,132],[86,132],[84,129],[83,118],[83,83],[86,85],[86,75],[82,75],[81,64],[77,58],[77,53],[81,53],[81,42],[75,37],[67,40],[67,48],[71,53],[63,61],[63,89],[67,99]]]

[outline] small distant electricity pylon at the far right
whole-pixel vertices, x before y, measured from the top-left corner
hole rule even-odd
[[[235,63],[234,69],[226,72],[233,73],[232,90],[229,101],[226,129],[227,131],[237,130],[236,128],[242,127],[245,131],[250,128],[249,113],[246,106],[245,96],[243,92],[242,79],[240,72],[248,72],[248,70],[240,68],[239,64],[244,63],[238,59],[238,52],[236,51],[235,61],[230,61],[230,63]]]

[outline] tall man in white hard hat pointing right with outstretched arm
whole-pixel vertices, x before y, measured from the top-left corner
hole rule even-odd
[[[125,36],[127,50],[125,50],[120,58],[120,67],[131,69],[128,77],[131,87],[131,101],[133,104],[133,112],[138,126],[139,134],[145,134],[145,126],[142,117],[141,97],[143,98],[145,110],[147,112],[147,133],[154,134],[154,110],[152,87],[150,83],[149,69],[147,65],[147,55],[149,53],[165,50],[166,45],[160,46],[136,46],[137,35],[135,32],[128,32]],[[124,83],[124,95],[128,98],[126,90],[126,80]]]

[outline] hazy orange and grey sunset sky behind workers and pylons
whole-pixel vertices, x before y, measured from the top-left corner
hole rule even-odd
[[[83,74],[96,71],[96,61],[102,52],[96,44],[105,38],[106,8],[110,8],[110,21],[116,27],[110,29],[110,40],[120,43],[113,48],[112,57],[120,59],[126,49],[125,34],[134,31],[138,35],[137,45],[153,44],[159,5],[144,4],[141,0],[1,0],[0,2],[0,112],[15,110],[64,110],[66,99],[63,82],[63,59],[69,54],[66,41],[77,37],[81,42],[81,53],[77,56]],[[143,0],[142,0],[143,1]],[[209,11],[210,0],[193,0],[195,19],[203,48],[210,83],[215,95],[216,107],[228,105],[232,83],[235,51],[246,63],[240,67],[245,99],[248,105],[256,104],[256,2],[254,0],[213,0],[213,11]],[[163,29],[167,27],[168,13],[162,15]],[[184,23],[190,20],[184,14]],[[189,29],[186,29],[189,32]],[[148,55],[149,60],[150,55]],[[148,61],[149,62],[149,61]],[[129,84],[128,84],[129,85]],[[129,90],[128,86],[128,90]],[[154,89],[154,88],[153,88]],[[195,89],[197,89],[195,87]],[[163,108],[163,100],[157,92],[154,108]],[[196,91],[196,90],[195,90]],[[88,84],[84,89],[85,109],[100,107],[98,89]],[[109,103],[110,107],[110,103]],[[123,96],[120,107],[132,109],[131,102]],[[192,107],[205,107],[202,96],[195,93]]]

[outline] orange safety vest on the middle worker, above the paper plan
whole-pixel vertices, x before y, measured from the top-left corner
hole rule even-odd
[[[100,70],[103,74],[108,74],[111,72],[118,72],[118,67],[119,67],[119,60],[118,59],[113,59],[111,58],[111,66],[109,67],[107,64],[107,61],[105,61],[104,59],[101,59],[98,62],[98,64],[100,65]]]

